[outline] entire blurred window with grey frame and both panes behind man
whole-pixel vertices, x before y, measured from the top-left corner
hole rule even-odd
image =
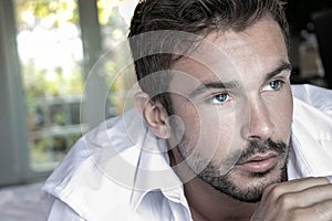
[[[113,82],[112,85],[106,85],[104,118],[123,112],[124,107],[120,101],[125,96],[125,91],[134,84],[133,67],[128,63],[123,69],[124,66],[118,63],[120,60],[125,61],[128,57],[118,54],[108,57],[105,54],[116,54],[113,49],[126,39],[129,17],[137,1],[132,0],[1,2],[1,12],[6,12],[1,17],[4,21],[1,23],[1,31],[15,22],[13,25],[15,30],[10,32],[8,38],[0,38],[0,45],[7,45],[8,41],[15,42],[6,48],[13,52],[13,55],[9,56],[10,54],[2,51],[1,53],[8,55],[7,60],[11,67],[19,64],[20,69],[17,69],[14,74],[21,76],[15,78],[20,81],[9,82],[15,84],[14,88],[23,91],[20,94],[8,88],[8,97],[4,99],[11,104],[13,96],[21,97],[20,103],[24,102],[27,114],[25,120],[15,119],[8,123],[13,128],[20,128],[22,133],[22,143],[17,144],[19,150],[11,147],[3,150],[15,156],[12,165],[17,166],[12,167],[13,170],[18,170],[17,176],[21,177],[19,180],[28,180],[38,173],[50,172],[82,133],[90,128],[89,120],[81,120],[80,108],[82,103],[85,103],[86,78],[91,71],[96,71],[93,70],[93,65],[101,60],[100,57],[107,57],[102,60],[98,69],[107,73],[105,75],[107,84],[111,83],[111,78]],[[96,36],[100,41],[96,41]],[[15,52],[17,56],[14,56]],[[127,64],[127,61],[123,64]],[[126,74],[118,74],[122,72]],[[1,72],[1,77],[2,75],[12,77],[12,73],[8,70]],[[92,96],[100,95],[97,90],[86,93],[91,93]],[[2,93],[3,96],[4,94]],[[1,113],[10,113],[10,109],[17,107],[19,104],[13,104],[8,107],[9,110],[1,110]],[[19,107],[17,112],[10,114],[14,118],[23,112],[24,108]],[[87,112],[87,115],[93,118],[94,113]],[[18,133],[8,134],[9,139],[14,143],[17,137],[12,134]],[[12,146],[10,141],[8,144]],[[18,157],[22,154],[22,158]],[[21,165],[20,169],[18,165]],[[1,179],[7,178],[0,173]]]

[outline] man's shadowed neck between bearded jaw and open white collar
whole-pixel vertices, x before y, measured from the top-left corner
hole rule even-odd
[[[175,166],[177,160],[176,150],[169,151],[170,165]],[[180,179],[193,172],[186,168],[176,171]],[[199,177],[185,182],[185,196],[188,201],[191,217],[195,221],[203,220],[250,220],[257,203],[246,203],[216,190],[210,185],[203,181]],[[185,179],[186,180],[186,179]],[[187,179],[188,180],[188,179]]]

